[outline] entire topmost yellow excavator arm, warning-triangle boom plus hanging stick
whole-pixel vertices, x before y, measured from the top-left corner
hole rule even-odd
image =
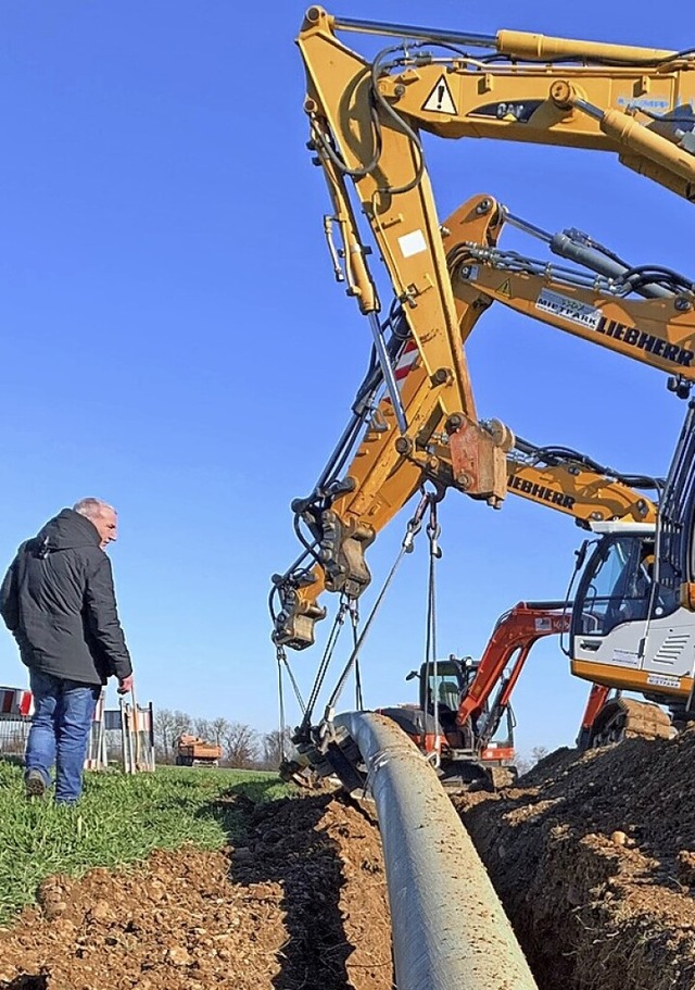
[[[368,60],[338,39],[341,32],[400,40]],[[509,431],[498,423],[486,428],[476,415],[419,133],[615,151],[629,167],[693,198],[693,55],[519,32],[483,37],[356,21],[320,7],[306,12],[298,45],[309,148],[332,202],[325,234],[337,277],[368,317],[403,446],[420,430],[445,430],[454,477],[473,498],[498,506]],[[406,421],[399,398],[362,216],[429,378],[427,419],[413,403]],[[351,549],[359,555],[368,539],[368,527],[357,526]],[[333,574],[327,578],[330,587]]]

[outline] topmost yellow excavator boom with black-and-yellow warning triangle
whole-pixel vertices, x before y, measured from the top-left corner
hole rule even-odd
[[[403,40],[370,62],[350,52],[349,67],[336,37],[341,30]],[[316,89],[338,87],[333,102],[340,102],[351,166],[378,173],[383,188],[419,181],[421,129],[443,138],[610,151],[629,168],[695,199],[690,50],[438,30],[332,16],[319,7],[307,11],[299,43]],[[396,128],[399,149],[379,143]]]

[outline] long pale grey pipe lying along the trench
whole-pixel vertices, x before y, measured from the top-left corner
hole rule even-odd
[[[435,770],[374,713],[339,715],[367,767],[399,990],[536,990],[490,877]]]

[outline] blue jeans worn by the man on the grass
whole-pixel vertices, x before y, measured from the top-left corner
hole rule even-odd
[[[29,671],[34,716],[26,743],[25,773],[38,770],[51,785],[55,764],[55,801],[74,804],[83,792],[89,731],[101,685],[63,680]]]

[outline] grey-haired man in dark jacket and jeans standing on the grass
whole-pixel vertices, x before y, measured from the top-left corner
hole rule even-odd
[[[29,668],[34,717],[26,747],[27,797],[42,797],[55,764],[55,802],[74,804],[102,686],[132,687],[111,562],[117,517],[99,499],[63,509],[23,543],[0,589],[0,614]]]

